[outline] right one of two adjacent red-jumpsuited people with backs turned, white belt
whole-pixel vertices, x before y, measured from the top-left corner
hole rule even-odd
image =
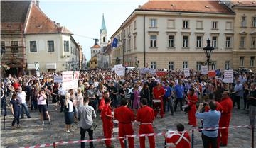
[[[140,122],[139,125],[139,134],[150,134],[154,133],[153,121],[154,121],[154,110],[149,106],[146,106],[146,98],[141,99],[141,106],[137,111],[136,120]],[[149,136],[149,145],[150,148],[155,147],[154,136]],[[139,137],[139,146],[140,148],[145,148],[145,137]]]

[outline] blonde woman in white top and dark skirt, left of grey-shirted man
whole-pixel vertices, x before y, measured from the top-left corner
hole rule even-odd
[[[66,93],[64,104],[65,104],[65,109],[64,109],[65,132],[70,133],[70,130],[74,131],[71,129],[71,125],[72,123],[74,123],[74,113],[73,113],[73,102],[70,100],[70,93]]]

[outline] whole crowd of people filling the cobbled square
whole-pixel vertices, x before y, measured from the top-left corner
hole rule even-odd
[[[55,83],[53,76],[61,73],[47,73],[41,76],[1,77],[1,108],[11,105],[11,113],[19,127],[20,116],[31,118],[30,110],[39,110],[41,123],[48,120],[50,101],[58,111],[64,113],[65,132],[73,131],[74,124],[80,124],[81,140],[85,132],[93,139],[93,130],[97,125],[93,118],[100,116],[105,138],[112,137],[113,120],[118,121],[119,137],[132,135],[132,123],[139,122],[139,134],[153,133],[152,123],[159,114],[175,115],[177,108],[188,114],[188,125],[192,127],[228,127],[233,108],[240,109],[240,100],[244,101],[244,110],[248,110],[250,125],[255,125],[256,115],[256,75],[253,73],[235,74],[233,83],[225,84],[223,76],[213,78],[192,71],[185,77],[181,71],[166,72],[165,76],[140,74],[139,70],[130,70],[125,76],[117,76],[107,69],[80,72],[78,88],[65,90],[61,83]],[[6,98],[11,98],[6,101]],[[8,102],[6,104],[6,102]],[[28,103],[28,105],[27,105]],[[169,113],[170,112],[170,113]],[[2,113],[2,112],[1,112]],[[198,125],[197,119],[201,121]],[[54,120],[54,119],[53,119]],[[253,126],[252,126],[253,127]],[[170,147],[190,147],[190,137],[183,132],[184,126],[177,125],[178,132],[166,136]],[[133,137],[127,137],[129,147],[134,147]],[[219,147],[228,144],[228,129],[203,130],[203,147]],[[140,147],[145,147],[145,137],[139,137]],[[105,140],[106,147],[113,147],[111,140]],[[120,139],[124,147],[124,139]],[[154,136],[149,136],[150,148],[155,147]],[[82,142],[81,147],[85,147]],[[90,142],[90,147],[93,143]]]

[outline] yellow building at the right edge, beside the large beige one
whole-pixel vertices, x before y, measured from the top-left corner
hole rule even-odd
[[[233,68],[256,70],[256,1],[225,1],[235,12]]]

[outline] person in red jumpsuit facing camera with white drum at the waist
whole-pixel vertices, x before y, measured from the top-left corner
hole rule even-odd
[[[154,87],[153,89],[153,98],[156,100],[161,100],[160,103],[160,116],[161,118],[164,118],[164,101],[163,101],[163,97],[164,97],[164,87],[161,86],[161,83],[158,83],[156,87]],[[159,104],[154,103],[153,104],[153,108],[158,108]],[[156,117],[157,114],[159,113],[158,110],[154,110],[154,116]]]

